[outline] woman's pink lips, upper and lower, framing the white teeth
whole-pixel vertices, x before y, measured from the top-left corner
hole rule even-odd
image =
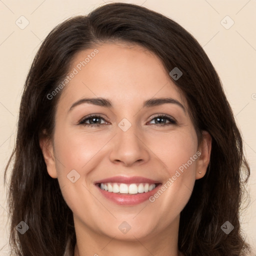
[[[131,183],[155,183],[158,184],[154,189],[148,192],[143,193],[137,193],[137,194],[121,194],[121,193],[113,193],[108,192],[106,190],[103,190],[99,187],[99,183],[125,183],[125,184],[131,184]],[[133,176],[133,177],[124,177],[124,176],[114,176],[110,178],[105,178],[98,180],[94,183],[96,187],[99,189],[101,194],[106,197],[107,199],[121,205],[135,205],[138,203],[141,203],[145,200],[147,200],[150,196],[152,196],[156,190],[159,188],[159,184],[161,184],[157,180],[152,180],[149,178],[144,178],[140,176]]]

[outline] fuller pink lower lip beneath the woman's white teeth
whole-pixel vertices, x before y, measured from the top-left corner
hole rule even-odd
[[[155,191],[159,188],[160,184],[158,184],[154,189],[148,192],[137,193],[137,194],[118,194],[113,192],[108,192],[106,190],[101,189],[98,185],[96,187],[100,190],[103,196],[107,199],[121,205],[135,205],[146,201],[150,196],[152,196]]]

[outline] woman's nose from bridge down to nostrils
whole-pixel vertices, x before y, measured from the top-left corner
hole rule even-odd
[[[123,118],[116,129],[115,143],[112,148],[111,161],[121,161],[131,165],[136,161],[147,161],[149,158],[146,146],[143,144],[139,127],[127,118]]]

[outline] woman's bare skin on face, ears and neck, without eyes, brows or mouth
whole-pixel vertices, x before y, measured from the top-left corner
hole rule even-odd
[[[99,52],[61,92],[53,139],[40,141],[48,174],[58,179],[73,212],[74,255],[177,256],[180,211],[195,179],[206,172],[211,137],[204,131],[202,142],[197,143],[186,100],[156,55],[122,43],[96,48]],[[70,71],[93,49],[75,55]],[[84,97],[107,98],[112,107],[83,103],[68,111]],[[158,97],[178,100],[185,111],[174,103],[142,107],[144,100]],[[101,126],[77,124],[94,113],[103,118],[98,119]],[[159,122],[157,126],[155,116],[161,114],[177,124],[167,125],[170,121],[163,119],[160,124],[165,126]],[[118,126],[123,118],[131,124],[127,131]],[[93,184],[116,175],[144,176],[164,184],[196,151],[200,156],[154,202],[118,205],[103,197]],[[66,177],[72,169],[80,175],[74,183]],[[123,221],[131,226],[126,234],[118,228]]]

